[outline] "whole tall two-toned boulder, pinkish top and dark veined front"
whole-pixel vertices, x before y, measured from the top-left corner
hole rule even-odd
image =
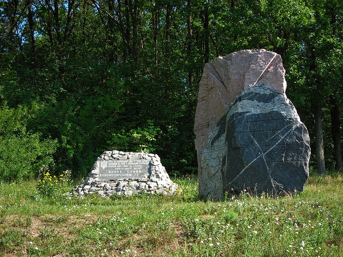
[[[200,197],[301,192],[310,138],[280,55],[243,50],[204,67],[195,118]]]

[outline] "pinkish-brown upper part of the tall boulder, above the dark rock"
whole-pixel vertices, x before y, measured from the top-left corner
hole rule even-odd
[[[241,92],[266,83],[276,91],[286,91],[281,56],[261,50],[242,50],[206,63],[200,81],[194,132],[198,152],[205,147],[209,129],[222,118]]]

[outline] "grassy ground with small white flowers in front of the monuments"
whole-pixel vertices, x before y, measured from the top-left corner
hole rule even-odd
[[[343,178],[311,175],[302,194],[199,201],[196,177],[175,197],[37,195],[0,183],[0,256],[343,256]],[[72,186],[71,186],[72,188]]]

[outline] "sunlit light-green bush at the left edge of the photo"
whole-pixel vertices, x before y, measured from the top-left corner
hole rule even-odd
[[[40,167],[53,166],[56,142],[27,131],[26,124],[37,109],[0,109],[0,179],[22,181],[38,176]]]

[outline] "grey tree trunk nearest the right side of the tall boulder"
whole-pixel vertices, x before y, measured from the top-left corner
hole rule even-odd
[[[324,159],[324,139],[323,139],[323,113],[321,107],[314,105],[314,119],[315,119],[315,146],[316,146],[316,160],[317,173],[325,174],[325,159]]]

